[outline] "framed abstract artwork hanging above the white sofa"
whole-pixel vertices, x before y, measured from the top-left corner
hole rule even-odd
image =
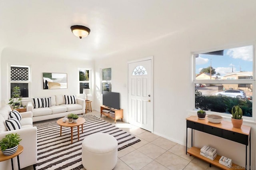
[[[43,89],[67,89],[67,73],[43,73]]]

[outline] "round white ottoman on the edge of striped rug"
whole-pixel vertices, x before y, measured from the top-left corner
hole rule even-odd
[[[86,170],[112,170],[117,162],[117,140],[106,133],[94,133],[82,142],[82,164]]]

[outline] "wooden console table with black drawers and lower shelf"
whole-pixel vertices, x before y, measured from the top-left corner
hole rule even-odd
[[[245,145],[246,155],[245,155],[245,169],[247,168],[247,146],[251,142],[251,127],[242,125],[241,128],[234,128],[231,122],[221,121],[221,123],[215,124],[208,122],[207,117],[205,119],[198,119],[197,116],[190,116],[186,118],[186,154],[193,155],[197,158],[200,158],[206,162],[222,168],[222,169],[244,169],[243,167],[232,164],[231,168],[228,168],[219,163],[219,159],[221,156],[217,155],[214,160],[210,160],[202,155],[200,155],[200,148],[193,146],[193,129],[201,132],[205,132],[208,134],[212,134],[214,136],[219,136],[221,138],[225,138],[228,140],[232,140],[234,142],[238,142]],[[188,147],[188,128],[191,128],[191,148],[187,150]],[[251,166],[251,144],[249,149],[249,162]]]

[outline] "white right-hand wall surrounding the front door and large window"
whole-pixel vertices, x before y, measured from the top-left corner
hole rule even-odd
[[[235,18],[234,18],[235,20]],[[242,22],[242,23],[241,23]],[[154,56],[154,133],[182,145],[186,145],[186,117],[193,109],[191,79],[191,53],[194,51],[212,51],[215,49],[254,43],[256,39],[255,22],[247,16],[235,22],[206,22],[189,30],[162,37],[152,42],[145,42],[126,51],[113,53],[105,59],[95,62],[96,86],[100,87],[100,68],[112,68],[112,91],[121,95],[120,107],[124,109],[124,120],[128,121],[128,61]],[[136,42],[134,42],[136,46]],[[96,105],[102,103],[98,97]],[[255,107],[254,102],[254,107]],[[230,121],[230,119],[226,119]],[[252,127],[252,168],[255,169],[256,125]],[[190,137],[190,136],[189,136]],[[218,154],[226,155],[233,162],[245,166],[245,146],[219,137],[195,133],[194,145],[214,146]],[[190,147],[190,143],[188,146]],[[230,151],[232,150],[232,151]]]

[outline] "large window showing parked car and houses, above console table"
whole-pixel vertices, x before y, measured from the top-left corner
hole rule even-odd
[[[254,45],[195,53],[195,109],[231,115],[231,108],[239,105],[243,116],[255,117],[252,115],[254,56]]]

